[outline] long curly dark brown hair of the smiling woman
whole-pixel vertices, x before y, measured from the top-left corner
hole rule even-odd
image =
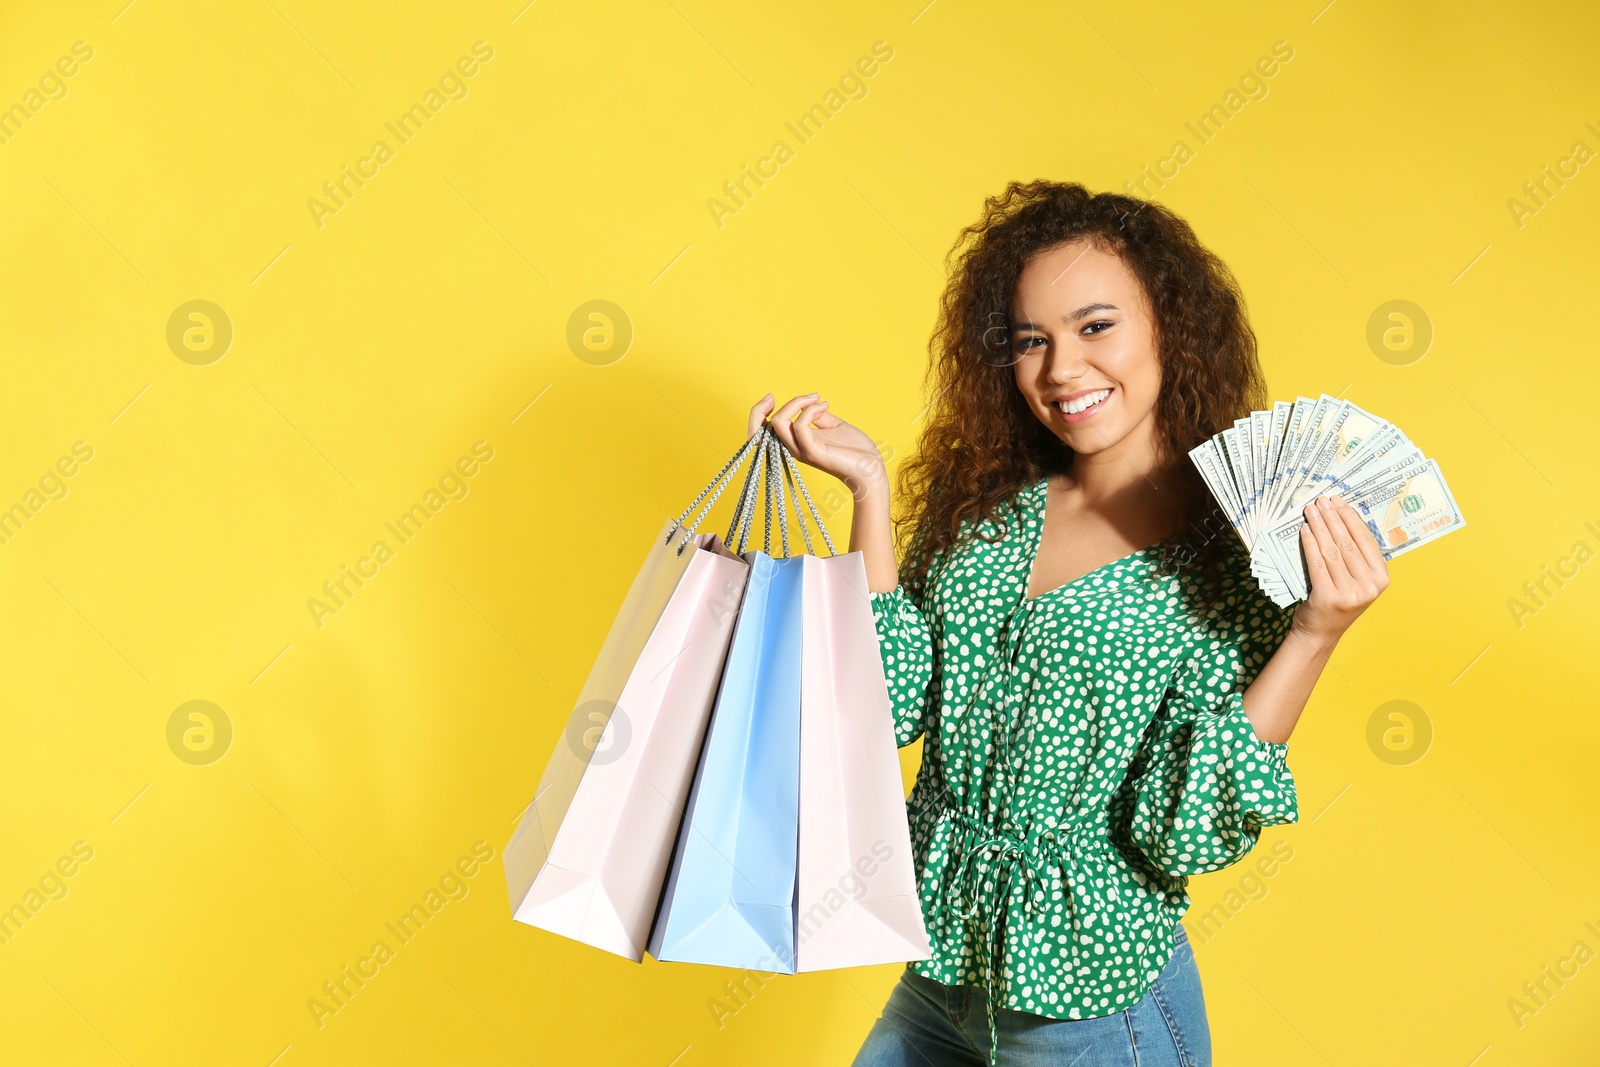
[[[939,553],[962,539],[963,523],[995,520],[1003,531],[1002,506],[1013,494],[1070,467],[1072,450],[1016,387],[1010,322],[1027,261],[1078,238],[1120,256],[1154,310],[1163,467],[1150,477],[1179,501],[1178,533],[1162,545],[1160,573],[1189,568],[1202,611],[1211,611],[1221,573],[1238,565],[1243,542],[1187,453],[1267,403],[1245,298],[1227,266],[1171,210],[1091,194],[1077,182],[1013,181],[984,202],[982,216],[946,256],[949,280],[928,342],[925,389],[933,400],[917,453],[898,475],[898,496],[910,502],[896,522],[909,542],[901,581],[922,587]]]

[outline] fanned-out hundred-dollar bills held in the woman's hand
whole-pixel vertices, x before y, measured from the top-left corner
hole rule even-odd
[[[1251,411],[1189,458],[1280,608],[1310,595],[1301,509],[1325,493],[1355,509],[1386,560],[1467,525],[1437,461],[1400,427],[1328,394]]]

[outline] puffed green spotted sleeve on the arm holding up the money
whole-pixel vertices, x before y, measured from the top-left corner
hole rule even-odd
[[[1293,621],[1250,579],[1197,621],[1131,768],[1131,838],[1157,869],[1219,870],[1254,848],[1261,827],[1299,817],[1288,744],[1262,741],[1245,718],[1245,689]]]

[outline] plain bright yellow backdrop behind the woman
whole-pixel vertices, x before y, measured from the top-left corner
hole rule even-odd
[[[1258,851],[1293,857],[1192,885],[1190,929],[1237,905],[1195,934],[1218,1062],[1595,1062],[1600,961],[1507,1006],[1600,952],[1600,563],[1509,606],[1600,549],[1600,174],[1509,206],[1600,147],[1586,5],[123,5],[0,16],[0,104],[93,48],[0,146],[0,507],[93,448],[0,545],[0,907],[93,849],[0,945],[0,1061],[848,1062],[898,968],[778,979],[718,1027],[733,973],[514,925],[499,851],[750,403],[821,389],[898,464],[982,198],[1123,189],[1186,141],[1157,195],[1237,272],[1272,397],[1394,419],[1467,517],[1392,565],[1318,685],[1302,821]],[[466,98],[318,227],[307,200],[480,40]],[[880,40],[867,96],[797,144]],[[1184,123],[1275,42],[1293,59],[1202,144]],[[778,139],[718,227],[707,200]],[[203,366],[166,342],[195,299],[234,330]],[[592,299],[634,330],[603,366],[566,342]],[[1394,299],[1434,330],[1403,365],[1366,341]],[[318,627],[307,600],[475,442],[466,498]],[[205,766],[166,736],[197,699],[234,731]],[[1389,701],[1430,723],[1421,760],[1368,745]],[[469,894],[318,1029],[307,1000],[475,841]]]

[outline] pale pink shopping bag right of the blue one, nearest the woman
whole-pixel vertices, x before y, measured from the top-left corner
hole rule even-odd
[[[802,558],[795,969],[926,960],[866,560]]]

